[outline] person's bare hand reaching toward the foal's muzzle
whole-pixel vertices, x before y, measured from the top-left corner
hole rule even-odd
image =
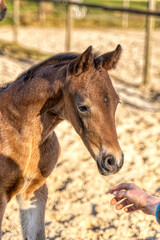
[[[111,205],[116,204],[117,210],[124,208],[125,212],[142,210],[146,214],[155,215],[160,203],[160,198],[149,195],[134,183],[121,183],[112,188],[110,193],[115,195]]]

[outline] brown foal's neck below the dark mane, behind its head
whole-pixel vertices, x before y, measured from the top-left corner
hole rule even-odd
[[[44,67],[26,82],[19,77],[0,95],[0,110],[8,123],[17,130],[25,126],[37,128],[44,140],[64,119],[62,87],[65,78],[66,66],[61,70]]]

